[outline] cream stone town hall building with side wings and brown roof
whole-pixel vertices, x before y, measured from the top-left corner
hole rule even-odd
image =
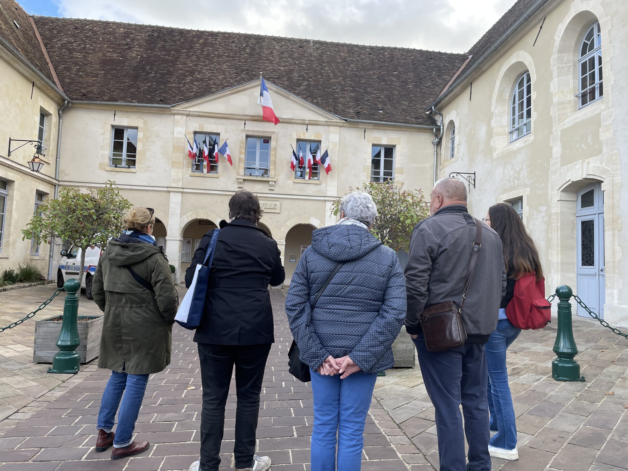
[[[53,161],[35,175],[0,150],[0,178],[13,188],[0,266],[46,264],[21,241],[30,193],[114,180],[134,205],[155,209],[155,236],[178,276],[200,237],[227,219],[230,195],[251,190],[289,280],[311,231],[335,223],[330,205],[350,188],[393,178],[429,194],[435,176],[458,173],[474,180],[477,217],[495,202],[521,214],[548,291],[569,284],[598,315],[628,325],[623,3],[518,0],[466,54],[29,17],[13,0],[0,6],[0,38],[18,49],[10,28],[21,15],[33,31],[21,55],[35,70],[48,67],[49,82],[0,48],[12,77],[0,101],[15,113],[3,112],[0,139],[33,136],[39,107],[51,116],[48,154],[60,155],[55,180]],[[208,50],[220,67],[198,67]],[[261,120],[259,72],[277,126]],[[26,97],[33,80],[37,102]],[[57,147],[55,116],[67,98]],[[227,141],[233,166],[220,156],[200,171],[186,139],[203,138]],[[329,174],[290,170],[293,148],[317,146],[328,149]]]

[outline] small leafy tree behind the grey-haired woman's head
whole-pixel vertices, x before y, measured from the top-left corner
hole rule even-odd
[[[371,229],[382,244],[394,251],[409,251],[414,226],[430,215],[430,207],[421,190],[404,190],[403,183],[369,181],[360,188],[369,193],[377,206],[377,217]],[[332,203],[332,214],[340,212],[340,199]]]

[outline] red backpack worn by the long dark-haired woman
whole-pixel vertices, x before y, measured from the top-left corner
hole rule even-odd
[[[551,322],[551,304],[545,299],[545,279],[536,281],[534,273],[524,274],[514,284],[506,317],[522,330],[543,328]]]

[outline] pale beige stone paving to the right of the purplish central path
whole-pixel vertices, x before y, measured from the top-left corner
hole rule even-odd
[[[508,350],[519,460],[493,458],[493,469],[628,469],[628,340],[597,321],[574,318],[580,350],[576,360],[586,381],[558,382],[551,377],[555,322],[544,330],[522,332]],[[403,443],[404,450],[416,446],[422,453],[414,455],[416,460],[425,456],[438,469],[434,408],[418,364],[387,371],[377,379],[374,396],[389,414],[378,425],[393,443]]]

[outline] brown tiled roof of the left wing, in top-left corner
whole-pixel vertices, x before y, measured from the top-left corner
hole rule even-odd
[[[29,15],[14,0],[0,0],[0,36],[54,83]]]

